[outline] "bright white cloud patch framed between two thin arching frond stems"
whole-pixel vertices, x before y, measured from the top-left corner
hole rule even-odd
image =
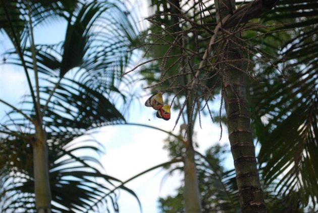
[[[136,175],[139,172],[168,160],[167,151],[163,150],[163,140],[165,134],[155,130],[141,127],[118,126],[118,135],[113,138],[112,143],[108,143],[107,154],[102,158],[105,168],[109,174],[121,180]],[[127,134],[135,132],[134,134]],[[96,138],[99,140],[98,138]]]

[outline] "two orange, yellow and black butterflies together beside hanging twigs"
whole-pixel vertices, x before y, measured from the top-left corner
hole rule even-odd
[[[170,105],[164,105],[163,94],[157,93],[152,95],[145,103],[146,107],[152,107],[157,110],[155,114],[158,118],[162,118],[164,120],[170,119]]]

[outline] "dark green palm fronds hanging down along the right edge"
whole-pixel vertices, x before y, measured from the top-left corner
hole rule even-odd
[[[318,197],[318,184],[313,181],[318,175],[314,154],[318,150],[316,6],[316,1],[280,1],[263,18],[284,23],[275,30],[285,30],[280,34],[288,36],[274,40],[273,53],[279,58],[274,64],[281,73],[267,68],[253,86],[254,126],[261,143],[264,181],[273,184],[279,195],[289,197],[290,206],[315,206]],[[291,201],[295,197],[299,200]]]

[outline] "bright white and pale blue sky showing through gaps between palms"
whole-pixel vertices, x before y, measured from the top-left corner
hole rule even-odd
[[[63,29],[65,29],[65,23],[63,22],[40,26],[35,31],[35,41],[37,44],[45,43],[47,40],[52,43],[59,42],[65,36]],[[8,39],[0,33],[0,54],[10,47],[11,44]],[[1,99],[17,106],[21,97],[28,92],[26,77],[21,68],[0,65]],[[153,109],[143,106],[146,99],[147,97],[144,97],[139,100],[140,102],[135,101],[132,104],[129,108],[130,116],[127,120],[172,131],[178,112],[172,111],[172,117],[169,121],[158,119],[155,117]],[[218,104],[215,103],[216,106]],[[5,111],[8,110],[8,107],[0,104],[0,120],[5,116]],[[208,147],[217,143],[228,144],[228,135],[225,127],[223,128],[223,137],[219,141],[221,134],[219,123],[212,123],[209,117],[202,117],[201,123],[202,129],[198,122],[196,122],[194,127],[195,141],[199,145],[197,151],[204,153]],[[174,131],[175,134],[178,134],[180,124],[182,123],[177,125]],[[105,155],[101,156],[105,172],[122,181],[128,180],[151,166],[169,161],[168,151],[163,149],[167,134],[157,130],[131,125],[105,126],[94,134],[94,138],[101,142],[106,149]],[[233,167],[231,156],[228,156],[226,165],[227,167]],[[126,185],[138,195],[143,212],[157,212],[158,197],[174,195],[175,189],[182,184],[183,174],[175,173],[163,181],[166,174],[167,171],[158,168]],[[139,212],[136,199],[127,192],[120,192],[119,207],[122,213]]]

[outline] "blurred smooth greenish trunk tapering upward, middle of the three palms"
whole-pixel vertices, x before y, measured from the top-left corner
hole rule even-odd
[[[201,212],[201,200],[196,176],[196,164],[194,162],[195,152],[192,142],[192,132],[192,127],[190,126],[187,132],[188,144],[184,159],[184,202],[187,213],[199,213]]]

